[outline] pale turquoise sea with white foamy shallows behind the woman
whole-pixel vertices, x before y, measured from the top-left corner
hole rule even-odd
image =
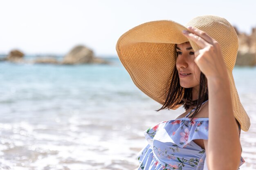
[[[133,170],[143,131],[184,112],[161,110],[117,57],[111,65],[55,66],[0,62],[0,169]],[[251,118],[241,132],[240,170],[256,169],[256,67],[235,67]]]

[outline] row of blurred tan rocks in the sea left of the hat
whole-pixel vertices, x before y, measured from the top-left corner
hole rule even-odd
[[[86,46],[75,46],[69,53],[67,53],[62,61],[57,60],[56,56],[40,56],[34,60],[25,60],[25,54],[14,49],[9,52],[6,57],[1,57],[0,61],[9,61],[14,63],[31,63],[31,64],[110,64],[110,62],[95,57],[91,49]]]

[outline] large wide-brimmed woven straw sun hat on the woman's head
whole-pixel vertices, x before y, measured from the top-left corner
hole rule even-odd
[[[193,18],[185,26],[171,20],[146,22],[136,26],[117,41],[116,49],[121,63],[142,92],[164,104],[164,89],[176,64],[175,44],[189,41],[182,33],[188,26],[208,33],[219,42],[229,75],[234,116],[242,130],[248,131],[250,119],[240,103],[232,74],[238,52],[238,37],[226,19],[204,15]],[[193,41],[189,42],[194,51],[200,49]],[[180,105],[173,109],[178,107]]]

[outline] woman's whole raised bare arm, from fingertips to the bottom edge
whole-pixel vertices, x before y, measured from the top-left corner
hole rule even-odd
[[[209,170],[237,170],[241,149],[229,90],[227,68],[220,45],[198,29],[184,35],[201,46],[195,51],[195,63],[207,77],[209,95],[209,138],[207,165]]]

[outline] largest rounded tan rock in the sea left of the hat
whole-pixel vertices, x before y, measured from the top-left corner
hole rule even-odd
[[[91,49],[85,46],[75,46],[63,59],[62,64],[93,63],[94,55]]]

